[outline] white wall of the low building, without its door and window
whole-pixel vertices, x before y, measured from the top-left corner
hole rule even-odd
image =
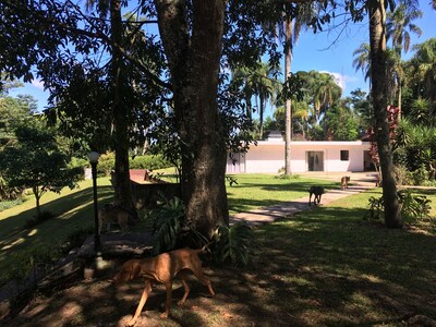
[[[325,172],[364,171],[364,150],[370,149],[368,142],[292,142],[291,143],[291,171],[308,171],[307,152],[322,152]],[[349,152],[349,160],[340,159],[340,152]],[[251,146],[245,155],[245,169],[247,173],[277,173],[284,167],[284,142],[261,141],[257,146]]]

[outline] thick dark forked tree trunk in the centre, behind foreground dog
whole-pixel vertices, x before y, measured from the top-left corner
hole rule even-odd
[[[225,1],[193,1],[191,37],[185,1],[155,3],[183,146],[181,185],[186,218],[210,237],[216,226],[229,223],[226,138],[217,105]]]

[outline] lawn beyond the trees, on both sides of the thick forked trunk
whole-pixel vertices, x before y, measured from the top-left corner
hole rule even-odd
[[[233,175],[238,184],[228,186],[230,214],[264,207],[305,196],[313,184],[337,187],[332,182],[312,179],[279,179],[269,174]],[[98,202],[110,202],[113,191],[108,178],[98,179]],[[35,198],[0,211],[0,283],[16,274],[20,263],[28,262],[32,253],[55,255],[71,235],[92,232],[94,207],[92,181],[83,181],[75,190],[64,189],[61,194],[46,193],[41,210],[57,217],[33,228],[25,228],[35,214]],[[137,229],[146,228],[141,225]],[[11,270],[11,267],[13,268]]]

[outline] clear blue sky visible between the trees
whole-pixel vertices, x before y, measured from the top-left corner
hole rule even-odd
[[[420,1],[423,17],[414,23],[421,27],[423,35],[417,38],[412,35],[412,44],[423,43],[424,40],[436,37],[436,11],[429,7],[431,0]],[[337,77],[338,84],[347,96],[358,87],[368,90],[367,83],[364,82],[363,73],[355,71],[352,66],[353,51],[362,43],[368,41],[367,19],[361,23],[350,24],[338,38],[338,29],[313,34],[303,32],[299,43],[293,49],[292,71],[328,72]],[[337,39],[338,38],[338,39]],[[413,55],[411,50],[403,55],[408,59]],[[43,110],[47,106],[47,92],[39,81],[26,84],[24,87],[11,92],[11,96],[19,94],[32,95],[38,101],[38,109]],[[270,114],[270,112],[266,112]]]

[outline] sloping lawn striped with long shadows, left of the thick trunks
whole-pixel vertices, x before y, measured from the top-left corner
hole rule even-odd
[[[99,179],[99,202],[110,201],[112,195],[109,179]],[[61,194],[45,194],[41,211],[53,213],[56,217],[26,228],[36,215],[35,198],[28,195],[23,204],[0,213],[0,283],[19,259],[35,252],[55,255],[71,234],[93,228],[92,181],[81,182],[75,190],[66,187]]]

